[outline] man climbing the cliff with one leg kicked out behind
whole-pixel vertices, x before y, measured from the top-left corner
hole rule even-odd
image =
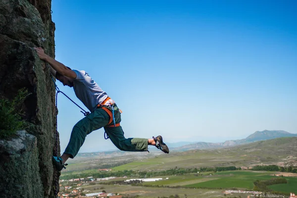
[[[121,121],[121,110],[108,95],[101,90],[98,84],[85,71],[71,70],[64,64],[47,55],[42,48],[34,48],[40,59],[51,66],[50,72],[63,85],[73,87],[75,95],[90,110],[90,114],[78,121],[72,129],[69,143],[61,157],[53,156],[53,164],[57,170],[65,168],[67,159],[74,158],[85,138],[91,132],[104,128],[111,142],[124,151],[148,151],[148,145],[155,146],[165,153],[169,149],[163,142],[162,136],[144,138],[124,137]]]

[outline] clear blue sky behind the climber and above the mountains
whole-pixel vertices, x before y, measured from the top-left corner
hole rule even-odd
[[[127,138],[223,142],[265,129],[297,133],[296,6],[52,0],[55,58],[87,71],[116,101]],[[83,114],[62,95],[58,108],[63,150]],[[115,149],[103,133],[88,135],[80,151]]]

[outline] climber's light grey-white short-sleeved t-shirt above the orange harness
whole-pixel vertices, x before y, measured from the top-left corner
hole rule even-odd
[[[76,73],[73,79],[73,90],[78,99],[92,112],[97,105],[103,102],[108,95],[85,71],[72,70]]]

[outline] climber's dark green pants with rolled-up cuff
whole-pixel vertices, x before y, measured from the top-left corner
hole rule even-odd
[[[115,121],[121,121],[119,109],[114,104]],[[148,139],[145,138],[128,138],[124,137],[121,126],[105,127],[109,122],[108,113],[102,108],[95,109],[92,113],[76,123],[72,129],[69,143],[64,151],[70,154],[70,158],[75,157],[81,146],[84,144],[86,136],[95,130],[104,127],[106,134],[111,142],[120,150],[124,151],[148,151]]]

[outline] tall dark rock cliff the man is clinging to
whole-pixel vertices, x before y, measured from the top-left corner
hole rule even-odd
[[[50,6],[51,0],[0,0],[0,96],[13,99],[19,89],[28,90],[22,110],[32,123],[13,140],[0,140],[1,198],[52,198],[58,190],[51,162],[59,153],[55,89],[49,67],[33,49],[54,57]],[[10,147],[13,142],[20,147]]]

